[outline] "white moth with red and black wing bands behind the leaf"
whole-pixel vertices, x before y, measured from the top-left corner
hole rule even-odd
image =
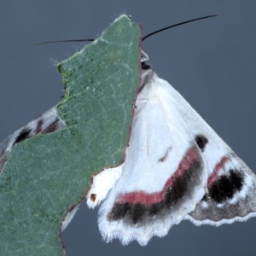
[[[125,161],[93,176],[86,195],[90,208],[103,201],[98,220],[103,239],[146,245],[183,219],[218,226],[255,216],[253,172],[183,96],[157,76],[144,50],[141,69]],[[0,144],[0,171],[15,143],[64,127],[52,108],[20,128]],[[77,209],[67,213],[62,230]]]

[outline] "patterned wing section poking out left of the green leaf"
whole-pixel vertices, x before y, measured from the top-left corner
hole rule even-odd
[[[32,120],[18,131],[15,131],[0,144],[0,172],[15,143],[20,143],[28,137],[50,133],[64,127],[64,123],[57,116],[56,109],[51,108],[38,117],[38,119]]]

